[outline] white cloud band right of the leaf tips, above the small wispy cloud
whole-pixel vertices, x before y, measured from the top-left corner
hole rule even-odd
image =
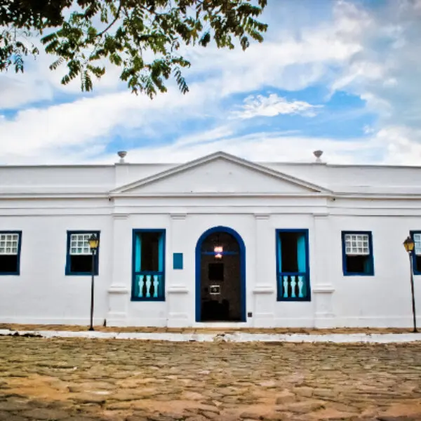
[[[253,44],[247,51],[194,48],[187,76],[206,74],[222,97],[265,86],[298,91],[323,80],[331,66],[342,66],[361,46],[336,39],[335,29],[305,29],[299,39],[277,33],[276,40]]]

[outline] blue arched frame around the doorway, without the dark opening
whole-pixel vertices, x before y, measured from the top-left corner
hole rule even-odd
[[[246,321],[246,246],[241,235],[229,227],[209,228],[201,236],[196,244],[196,321],[201,321],[201,246],[210,234],[214,232],[226,232],[231,234],[240,248],[240,303],[241,303],[241,321]]]

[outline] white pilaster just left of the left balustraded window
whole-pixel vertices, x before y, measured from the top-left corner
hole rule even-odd
[[[126,326],[131,291],[131,230],[128,215],[114,213],[112,283],[108,289],[107,326]]]

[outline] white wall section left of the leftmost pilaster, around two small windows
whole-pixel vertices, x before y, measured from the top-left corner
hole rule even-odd
[[[66,276],[67,230],[101,232],[95,322],[107,313],[111,269],[112,221],[98,215],[37,215],[0,218],[0,231],[22,231],[20,275],[0,276],[0,320],[11,323],[83,324],[89,316],[91,283],[87,276]]]

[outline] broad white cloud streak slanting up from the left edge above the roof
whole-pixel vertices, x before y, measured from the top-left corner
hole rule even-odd
[[[122,91],[22,109],[12,117],[0,119],[0,162],[53,163],[54,156],[60,162],[68,156],[72,162],[73,158],[81,159],[85,149],[105,149],[115,133],[133,135],[135,131],[138,136],[149,138],[175,133],[178,121],[186,116],[202,119],[213,112],[213,104],[211,91],[206,93],[201,84],[193,84],[188,95],[171,89],[154,100]],[[218,135],[215,131],[211,138],[227,133]],[[86,158],[90,157],[86,153]]]

